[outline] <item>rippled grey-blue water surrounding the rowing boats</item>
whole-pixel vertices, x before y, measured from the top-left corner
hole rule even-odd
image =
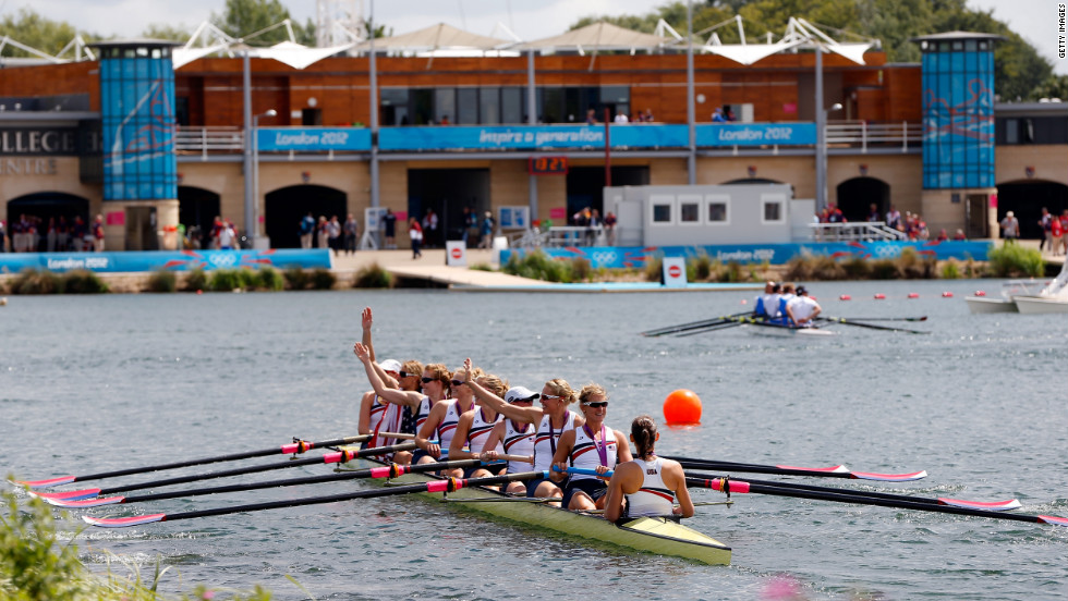
[[[743,328],[636,335],[743,310],[741,300],[755,294],[748,292],[13,297],[0,308],[0,466],[45,478],[263,449],[294,436],[354,434],[368,385],[351,348],[360,309],[369,305],[380,357],[458,366],[470,355],[535,389],[555,377],[598,381],[611,391],[608,422],[616,428],[641,413],[659,418],[668,392],[694,390],[704,402],[702,425],[665,430],[665,454],[926,469],[930,477],[918,482],[844,486],[1015,496],[1028,514],[1066,516],[1068,319],[970,315],[963,296],[979,287],[993,293],[999,283],[814,284],[827,315],[927,315],[925,323],[900,324],[933,333],[839,326],[841,335],[810,343]],[[956,297],[943,298],[946,290]],[[887,299],[873,300],[876,292]],[[909,292],[920,298],[907,299]],[[854,300],[835,300],[840,294]],[[148,479],[99,483],[138,478]],[[841,481],[816,483],[828,482]],[[355,486],[364,485],[88,513],[177,513]],[[694,496],[723,500],[711,491]],[[809,599],[1066,593],[1066,528],[761,495],[735,501],[701,507],[690,523],[733,548],[729,567],[591,548],[410,499],[92,529],[78,541],[94,569],[106,569],[117,553],[150,577],[158,557],[170,566],[166,591],[263,584],[278,599],[308,597],[287,575],[316,599],[515,599],[550,590],[590,599],[758,599],[778,574],[803,582]]]

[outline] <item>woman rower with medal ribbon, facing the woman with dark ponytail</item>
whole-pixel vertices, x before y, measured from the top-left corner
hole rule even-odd
[[[599,384],[586,384],[579,393],[586,422],[563,432],[553,456],[549,476],[561,482],[571,467],[595,469],[605,474],[617,463],[631,461],[630,445],[622,432],[605,426],[608,393]],[[608,485],[596,476],[572,474],[563,487],[563,506],[575,511],[603,510]]]

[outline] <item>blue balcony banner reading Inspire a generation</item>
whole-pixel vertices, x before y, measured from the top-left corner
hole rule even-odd
[[[611,125],[612,148],[687,146],[685,125]],[[604,148],[604,125],[383,127],[381,150],[535,150]]]

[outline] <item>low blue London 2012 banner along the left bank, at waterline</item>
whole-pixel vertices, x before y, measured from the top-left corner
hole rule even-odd
[[[71,271],[85,269],[100,273],[145,272],[166,269],[330,269],[329,249],[278,250],[180,250],[128,253],[20,253],[0,254],[0,273],[17,273],[24,269]]]

